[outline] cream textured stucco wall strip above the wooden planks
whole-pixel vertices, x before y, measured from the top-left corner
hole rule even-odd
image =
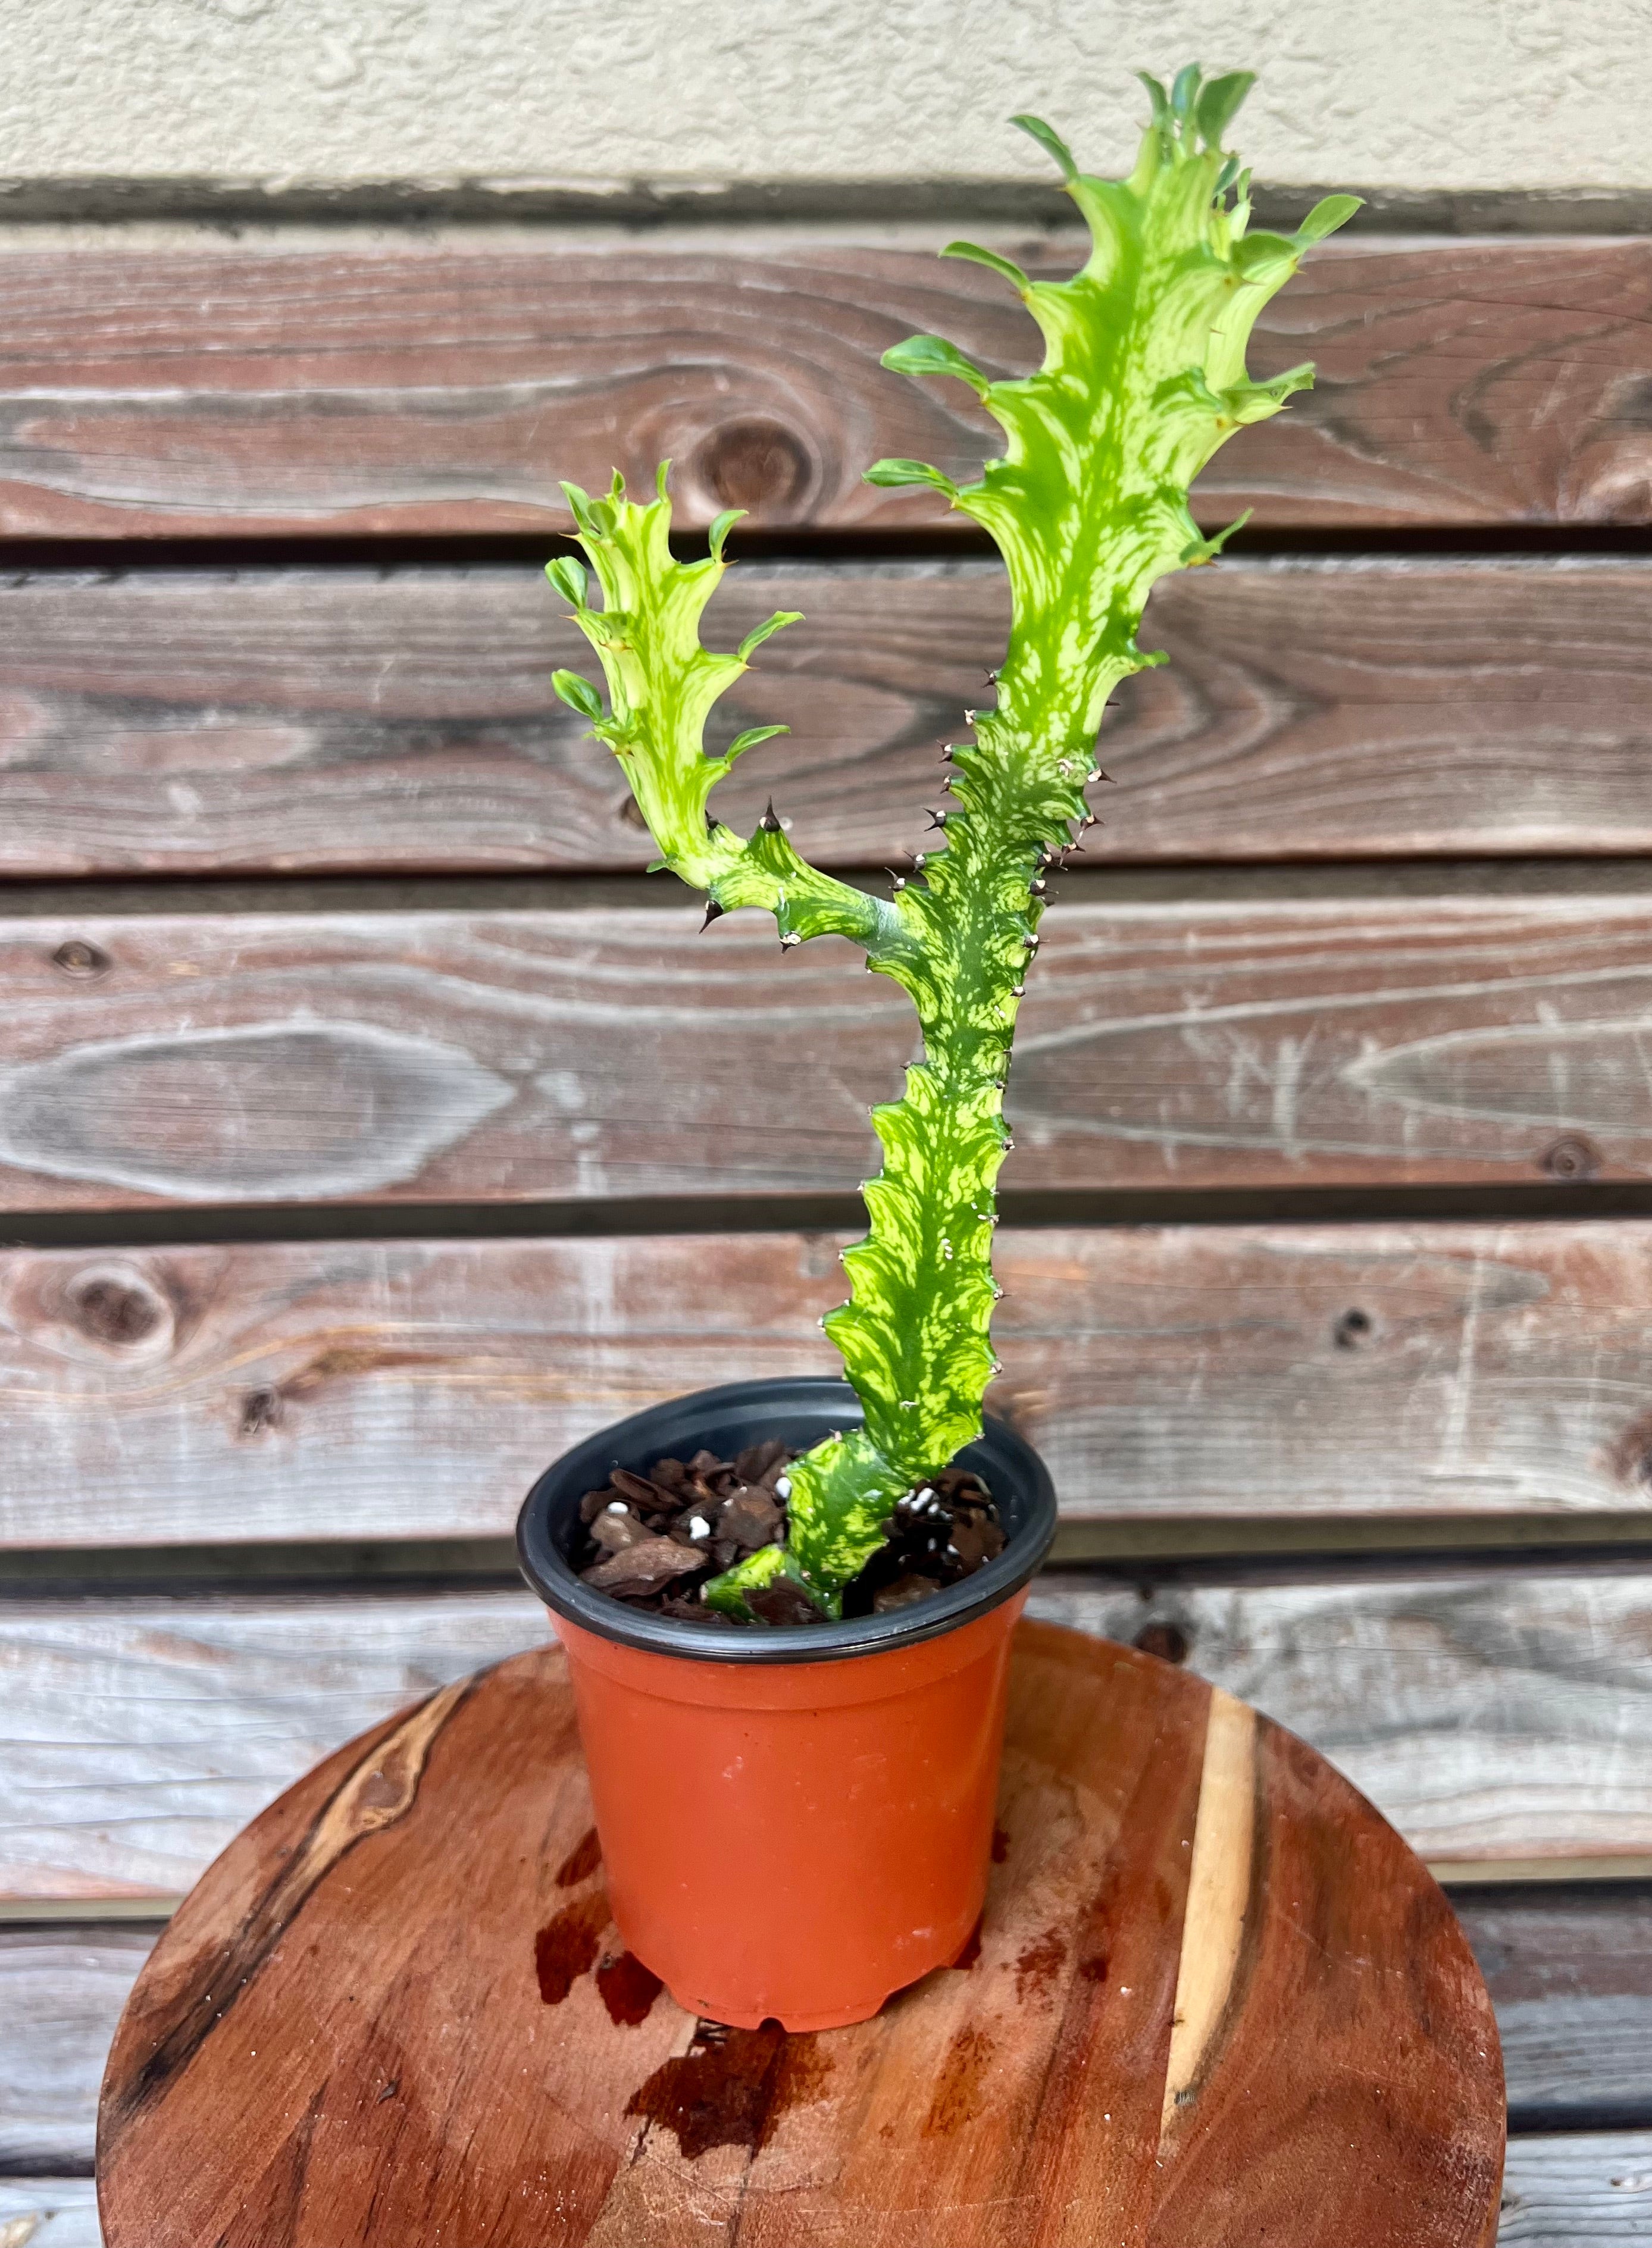
[[[1252,65],[1277,182],[1652,184],[1648,0],[0,0],[0,175],[1041,175]]]

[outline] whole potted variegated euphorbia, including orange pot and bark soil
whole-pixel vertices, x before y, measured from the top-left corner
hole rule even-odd
[[[1045,883],[1095,823],[1086,789],[1119,679],[1164,661],[1135,634],[1153,582],[1211,562],[1187,492],[1236,429],[1313,371],[1245,375],[1245,346],[1304,250],[1358,202],[1331,196],[1292,236],[1250,232],[1250,175],[1225,151],[1247,72],[1167,90],[1128,180],[1061,166],[1092,250],[1061,283],[953,243],[1023,299],[1045,342],[989,380],[919,335],[883,364],[969,384],[1002,459],[955,486],[919,461],[868,481],[933,486],[982,524],[1009,571],[1009,645],[991,710],[948,749],[946,809],[895,895],[823,874],[773,816],[751,836],[710,809],[760,726],[721,755],[701,731],[771,616],[733,654],[699,620],[735,510],[677,562],[665,470],[632,501],[564,486],[600,587],[551,582],[607,679],[557,672],[629,780],[659,865],[775,917],[780,944],[847,937],[913,998],[924,1057],[872,1111],[883,1169],[845,1252],[850,1302],[820,1322],[845,1380],[744,1383],[593,1436],[530,1493],[519,1547],[569,1652],[616,1924],[692,2012],[789,2030],[859,2021],[951,1963],[980,1913],[1009,1632],[1054,1533],[1036,1454],[982,1414],[993,1191],[1009,1151],[1005,1079],[1038,951]],[[1243,522],[1243,517],[1241,517]],[[1229,526],[1238,528],[1238,526]],[[793,1457],[796,1454],[796,1457]]]

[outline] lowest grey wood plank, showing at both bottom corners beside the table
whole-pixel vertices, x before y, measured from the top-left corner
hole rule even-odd
[[[101,2248],[90,2178],[0,2178],[0,2239]],[[1497,2248],[1632,2248],[1652,2241],[1652,2131],[1517,2138],[1504,2169]]]

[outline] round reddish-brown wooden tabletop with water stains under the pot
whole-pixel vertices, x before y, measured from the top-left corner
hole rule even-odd
[[[1492,2241],[1474,1960],[1299,1740],[1023,1623],[996,1859],[964,1956],[877,2021],[692,2021],[609,1922],[560,1652],[447,1686],[155,1947],[103,2079],[108,2248]]]

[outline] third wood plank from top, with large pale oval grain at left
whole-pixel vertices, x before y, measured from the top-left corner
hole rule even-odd
[[[854,1189],[913,1014],[692,908],[0,922],[0,1207]],[[1018,1189],[1643,1178],[1652,899],[1070,904]]]

